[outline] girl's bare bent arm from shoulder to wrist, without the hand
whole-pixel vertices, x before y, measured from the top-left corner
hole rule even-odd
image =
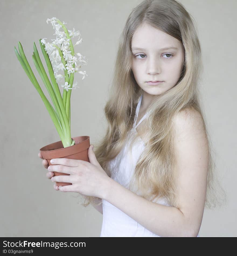
[[[199,113],[182,111],[174,119],[178,207],[148,201],[109,179],[103,198],[161,237],[197,237],[208,170],[208,141]]]

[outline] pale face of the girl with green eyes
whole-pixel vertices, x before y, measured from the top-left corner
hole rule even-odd
[[[163,49],[169,47],[177,49]],[[135,30],[131,48],[133,74],[143,93],[161,95],[177,84],[184,58],[183,44],[179,40],[144,23]],[[149,85],[149,81],[162,82]]]

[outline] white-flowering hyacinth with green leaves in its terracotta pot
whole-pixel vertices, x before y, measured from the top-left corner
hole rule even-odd
[[[57,141],[47,146],[41,147],[40,151],[44,159],[47,159],[48,165],[51,165],[50,160],[53,158],[72,158],[89,162],[88,148],[90,147],[89,136],[71,137],[71,92],[73,88],[76,88],[74,82],[74,74],[76,72],[83,75],[82,79],[87,76],[86,71],[79,70],[83,65],[87,65],[85,56],[81,53],[76,53],[75,56],[74,46],[82,42],[79,31],[67,30],[65,22],[61,22],[57,18],[47,19],[47,23],[51,22],[55,29],[56,39],[52,40],[52,43],[46,43],[45,39],[39,39],[40,48],[43,53],[44,59],[47,64],[48,73],[50,79],[41,62],[36,44],[33,42],[33,62],[34,65],[50,95],[53,102],[53,106],[50,104],[46,96],[44,95],[34,73],[26,59],[25,53],[21,43],[18,41],[18,50],[14,46],[16,56],[25,70],[26,75],[39,92],[44,105],[46,106],[48,113],[57,129],[61,141]],[[60,29],[62,28],[63,31]],[[78,37],[78,41],[75,45],[72,44],[72,38]],[[64,75],[58,74],[59,71],[64,71]],[[64,78],[63,95],[59,90],[58,83],[60,79]],[[51,80],[51,81],[50,81]],[[65,173],[54,172],[54,175],[69,175]],[[71,185],[68,182],[56,182],[58,186]]]

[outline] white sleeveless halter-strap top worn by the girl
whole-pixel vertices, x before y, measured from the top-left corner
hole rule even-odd
[[[133,129],[129,136],[137,133],[137,126],[146,118],[145,114],[141,120],[136,124],[138,113],[140,110],[142,95],[139,99],[136,108],[136,115],[134,118]],[[141,137],[134,142],[131,149],[131,155],[128,154],[129,143],[127,143],[120,151],[120,153],[109,162],[111,171],[111,178],[125,188],[128,189],[131,177],[133,175],[135,165],[145,148],[144,141]],[[138,193],[139,194],[139,191]],[[165,198],[153,201],[162,205],[170,206]],[[145,229],[138,222],[130,216],[122,212],[120,209],[102,199],[103,203],[103,223],[100,232],[100,237],[160,237],[151,231]],[[200,237],[199,234],[197,237]]]

